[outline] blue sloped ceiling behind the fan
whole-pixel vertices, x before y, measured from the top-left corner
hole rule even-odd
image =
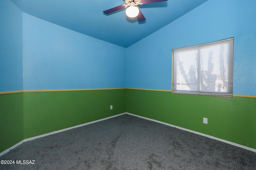
[[[146,21],[128,18],[125,8],[104,14],[124,0],[11,0],[22,12],[79,33],[129,47],[207,0],[168,0],[138,5]]]

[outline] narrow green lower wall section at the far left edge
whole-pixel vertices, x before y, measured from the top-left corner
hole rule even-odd
[[[23,93],[0,95],[0,153],[23,138]]]

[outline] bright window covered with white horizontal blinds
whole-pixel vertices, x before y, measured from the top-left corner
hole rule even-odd
[[[232,97],[233,38],[173,50],[173,93]]]

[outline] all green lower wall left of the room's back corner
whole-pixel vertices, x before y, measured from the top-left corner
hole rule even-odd
[[[124,113],[125,94],[125,89],[2,94],[0,153],[24,139]]]

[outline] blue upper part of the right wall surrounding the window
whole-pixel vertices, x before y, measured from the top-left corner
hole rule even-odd
[[[126,87],[172,90],[172,49],[234,37],[233,94],[255,96],[255,6],[254,0],[208,0],[128,47]]]

